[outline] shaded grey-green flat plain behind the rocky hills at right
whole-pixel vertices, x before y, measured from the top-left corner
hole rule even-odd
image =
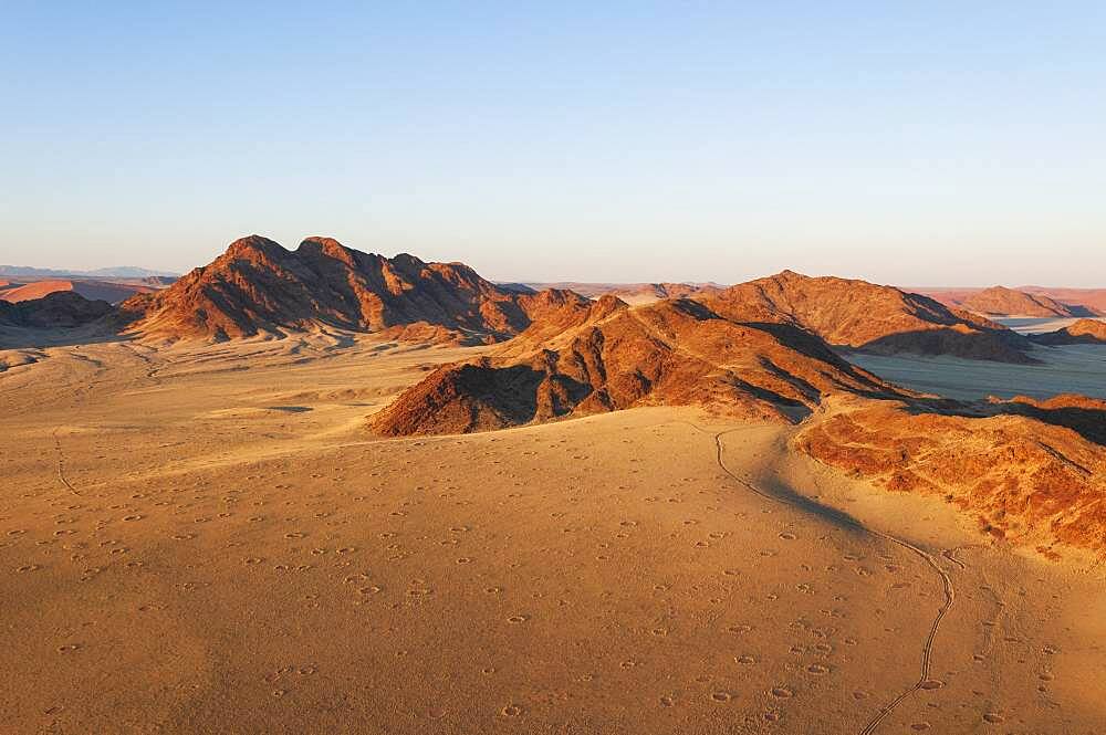
[[[948,398],[1050,398],[1082,393],[1106,398],[1106,345],[1036,347],[1040,365],[1009,365],[958,357],[862,355],[849,360],[893,382]]]

